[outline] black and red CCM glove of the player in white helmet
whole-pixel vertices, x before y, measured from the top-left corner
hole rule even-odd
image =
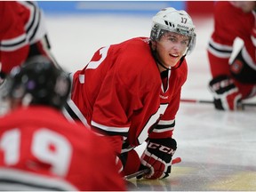
[[[143,177],[150,180],[168,177],[171,173],[172,156],[176,148],[176,140],[172,138],[149,139],[147,148],[140,158],[142,164],[140,169],[145,169],[146,166],[150,172]]]

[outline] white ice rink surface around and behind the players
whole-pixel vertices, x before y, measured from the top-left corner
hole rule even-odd
[[[84,68],[101,46],[149,36],[151,16],[45,15],[52,52],[70,72]],[[194,18],[196,49],[188,60],[188,81],[181,98],[212,100],[206,46],[211,18]],[[252,100],[256,103],[255,100]],[[212,104],[180,103],[174,138],[180,164],[164,180],[129,180],[135,191],[256,191],[256,108],[216,111]],[[139,150],[142,150],[139,148]]]

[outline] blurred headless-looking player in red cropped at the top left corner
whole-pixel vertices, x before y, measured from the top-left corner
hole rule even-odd
[[[44,55],[54,61],[44,15],[36,2],[0,1],[0,23],[0,84],[29,57]]]

